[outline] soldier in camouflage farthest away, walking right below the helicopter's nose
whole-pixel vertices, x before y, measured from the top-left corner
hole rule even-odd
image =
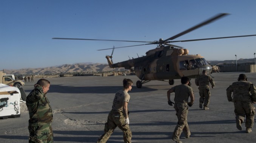
[[[202,75],[200,75],[198,78],[196,78],[195,83],[199,89],[199,108],[202,109],[202,104],[204,103],[204,110],[209,110],[209,104],[210,104],[210,86],[209,82],[211,83],[211,88],[215,86],[213,79],[207,75],[207,71],[203,71]]]

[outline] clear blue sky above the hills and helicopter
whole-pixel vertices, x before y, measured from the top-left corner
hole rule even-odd
[[[175,40],[256,35],[255,0],[1,0],[0,69],[107,63],[104,48],[143,43],[52,38],[155,41],[168,39],[218,13],[227,17]],[[207,60],[254,58],[256,36],[176,42]],[[156,45],[115,49],[113,62],[145,55]],[[17,56],[19,55],[19,56]]]

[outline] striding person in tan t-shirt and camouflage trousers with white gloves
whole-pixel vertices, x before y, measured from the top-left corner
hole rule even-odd
[[[108,121],[105,123],[104,134],[98,139],[97,143],[106,143],[114,129],[118,126],[123,131],[124,143],[131,143],[131,130],[128,118],[128,102],[133,81],[123,79],[123,89],[119,90],[113,100],[112,110],[108,114]]]

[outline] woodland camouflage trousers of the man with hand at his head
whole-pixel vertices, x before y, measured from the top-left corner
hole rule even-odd
[[[53,143],[51,123],[38,123],[28,126],[29,143]]]

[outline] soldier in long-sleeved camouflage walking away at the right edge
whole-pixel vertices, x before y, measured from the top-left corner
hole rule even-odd
[[[236,128],[242,130],[241,123],[244,122],[244,117],[246,117],[246,132],[250,133],[254,123],[255,108],[253,104],[256,102],[256,87],[247,81],[245,74],[240,74],[237,80],[227,88],[227,98],[229,102],[234,102]],[[233,98],[231,96],[232,92]]]

